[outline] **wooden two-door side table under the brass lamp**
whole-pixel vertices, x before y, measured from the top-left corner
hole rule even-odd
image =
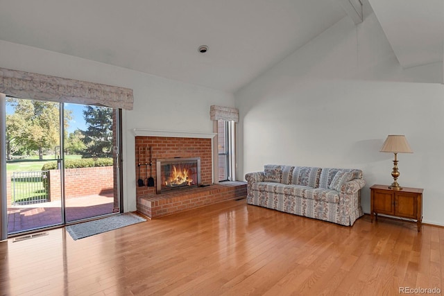
[[[416,220],[418,232],[422,223],[422,191],[420,188],[403,187],[402,190],[391,190],[386,185],[370,187],[370,220],[373,215],[386,214]]]

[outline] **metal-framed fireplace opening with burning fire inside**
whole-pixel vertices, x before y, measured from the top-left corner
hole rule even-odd
[[[200,157],[156,160],[156,193],[200,184]]]

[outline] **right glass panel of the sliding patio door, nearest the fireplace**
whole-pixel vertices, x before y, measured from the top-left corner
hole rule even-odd
[[[117,110],[65,104],[65,112],[76,118],[63,152],[67,222],[119,212]]]

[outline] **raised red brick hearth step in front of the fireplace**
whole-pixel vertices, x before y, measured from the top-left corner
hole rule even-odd
[[[138,197],[137,211],[148,218],[158,218],[225,200],[236,200],[245,197],[246,194],[247,184],[240,181],[176,189]]]

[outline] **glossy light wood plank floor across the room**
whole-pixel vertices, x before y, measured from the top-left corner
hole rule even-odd
[[[246,200],[73,241],[0,243],[0,295],[399,295],[443,289],[444,228],[380,217],[353,227]]]

